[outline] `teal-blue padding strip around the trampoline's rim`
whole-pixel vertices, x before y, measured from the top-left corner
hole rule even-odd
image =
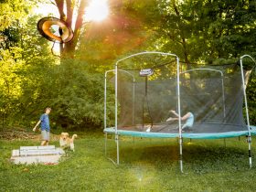
[[[115,133],[114,127],[105,128],[104,133]],[[127,130],[117,130],[120,135],[149,137],[149,138],[176,138],[178,133],[153,133],[153,132],[135,132]],[[248,131],[225,132],[225,133],[182,133],[183,138],[190,139],[221,139],[229,137],[238,137],[248,135]],[[256,135],[256,126],[251,126],[251,135]]]

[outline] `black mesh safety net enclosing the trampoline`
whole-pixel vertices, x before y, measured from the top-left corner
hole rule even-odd
[[[243,119],[243,88],[237,64],[207,66],[180,64],[180,113],[194,115],[188,133],[226,133],[248,130]],[[249,79],[250,71],[243,70]],[[123,59],[108,79],[117,88],[118,130],[178,133],[177,60],[162,54]],[[115,84],[115,80],[117,80]],[[114,98],[114,97],[112,97]],[[113,101],[111,102],[113,103]],[[110,108],[110,106],[108,106]],[[182,121],[182,125],[186,121]]]

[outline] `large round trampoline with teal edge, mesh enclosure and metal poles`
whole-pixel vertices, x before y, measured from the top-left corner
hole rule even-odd
[[[175,54],[163,52],[141,52],[119,59],[114,69],[105,72],[105,153],[108,133],[115,135],[117,165],[120,135],[178,138],[183,172],[183,138],[246,135],[251,167],[251,134],[256,134],[256,127],[250,125],[246,85],[254,67],[244,69],[245,60],[256,64],[249,55],[229,65],[186,65]],[[194,123],[183,129],[187,122],[182,116],[187,112],[193,113]],[[176,119],[166,121],[169,117]]]

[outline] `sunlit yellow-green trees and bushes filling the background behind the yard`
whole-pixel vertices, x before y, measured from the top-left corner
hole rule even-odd
[[[32,126],[50,106],[53,127],[101,127],[104,71],[134,52],[173,52],[187,66],[223,64],[243,54],[256,58],[255,1],[110,0],[111,15],[101,23],[80,25],[77,42],[67,46],[71,54],[61,59],[51,54],[52,44],[37,32],[42,16],[30,13],[38,2],[0,4],[3,126]],[[255,81],[252,76],[248,86],[252,124]]]

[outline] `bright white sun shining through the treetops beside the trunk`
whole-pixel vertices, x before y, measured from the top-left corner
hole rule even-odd
[[[101,21],[109,15],[109,6],[107,0],[91,0],[89,6],[85,9],[86,21]]]

